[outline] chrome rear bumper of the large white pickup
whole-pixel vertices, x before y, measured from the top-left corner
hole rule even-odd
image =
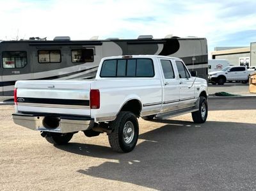
[[[94,123],[94,120],[88,116],[65,114],[15,113],[12,117],[14,123],[31,130],[61,134],[87,130],[92,128]]]

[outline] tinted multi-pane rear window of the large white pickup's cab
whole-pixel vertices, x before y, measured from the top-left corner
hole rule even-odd
[[[104,61],[100,77],[154,77],[152,59],[109,59]]]

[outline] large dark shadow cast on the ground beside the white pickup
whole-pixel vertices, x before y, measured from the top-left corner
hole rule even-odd
[[[81,143],[56,147],[77,155],[108,159],[90,167],[85,162],[84,167],[76,169],[81,174],[157,190],[202,190],[211,188],[212,182],[212,188],[221,188],[216,185],[237,174],[237,167],[230,164],[243,159],[252,160],[250,165],[256,162],[255,149],[246,148],[246,144],[255,144],[255,124],[207,121],[195,125],[169,119],[156,122],[165,124],[140,134],[140,143],[131,153],[115,153],[110,147]],[[238,170],[247,167],[244,164]]]

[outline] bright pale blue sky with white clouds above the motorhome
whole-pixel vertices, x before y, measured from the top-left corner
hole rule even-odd
[[[0,40],[198,36],[214,47],[256,42],[255,0],[0,0]]]

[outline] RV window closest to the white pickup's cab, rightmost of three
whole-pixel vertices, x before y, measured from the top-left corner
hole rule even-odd
[[[92,63],[93,49],[76,49],[71,50],[72,63]]]

